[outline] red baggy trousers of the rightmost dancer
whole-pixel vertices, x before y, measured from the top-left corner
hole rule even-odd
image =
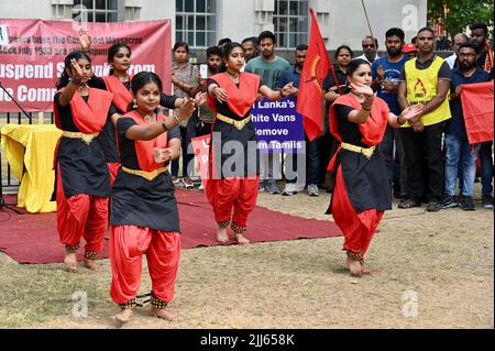
[[[332,195],[332,216],[344,235],[343,250],[360,253],[364,257],[383,213],[384,211],[376,209],[355,212],[348,197],[342,169],[339,167]]]

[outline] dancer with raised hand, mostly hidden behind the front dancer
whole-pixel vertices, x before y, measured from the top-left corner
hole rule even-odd
[[[79,42],[82,52],[89,55],[91,37],[85,30],[80,30]],[[133,98],[131,92],[131,79],[129,68],[131,67],[131,47],[123,43],[117,43],[108,50],[108,64],[112,67],[110,74],[105,77],[91,76],[88,85],[94,88],[108,90],[113,94],[113,105],[120,114],[124,114],[129,107],[132,106]],[[198,94],[196,102],[198,106],[202,105],[206,96]],[[162,92],[160,105],[167,109],[176,109],[187,102],[187,99],[168,96]],[[117,131],[113,123],[107,121],[101,140],[105,144],[105,152],[107,156],[108,167],[110,169],[110,182],[113,184],[117,173],[120,167],[120,156],[117,142]]]

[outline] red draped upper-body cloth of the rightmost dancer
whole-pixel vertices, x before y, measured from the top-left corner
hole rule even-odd
[[[342,135],[340,135],[339,131],[339,121],[336,114],[334,105],[345,105],[354,108],[355,110],[361,110],[362,106],[358,99],[351,94],[343,95],[339,97],[333,105],[330,107],[329,119],[330,119],[330,133],[339,141],[342,142]],[[378,97],[374,97],[372,111],[370,112],[370,117],[366,120],[366,123],[360,123],[359,129],[361,134],[363,134],[363,139],[361,140],[363,143],[374,146],[377,145],[385,134],[385,130],[388,123],[388,113],[391,110],[388,109],[388,105]],[[337,152],[333,154],[332,160],[328,164],[328,171],[333,172],[336,167],[337,154],[339,153],[340,145],[337,149]]]

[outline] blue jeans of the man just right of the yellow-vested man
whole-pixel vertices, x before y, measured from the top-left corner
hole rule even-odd
[[[474,177],[476,176],[476,154],[480,144],[470,145],[454,134],[446,134],[446,195],[455,196],[460,162],[462,162],[462,195],[473,196]]]

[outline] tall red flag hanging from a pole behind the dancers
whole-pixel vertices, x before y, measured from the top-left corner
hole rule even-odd
[[[311,141],[321,134],[322,86],[331,67],[331,62],[315,12],[312,9],[309,9],[309,12],[311,13],[311,31],[306,61],[300,75],[296,110],[304,116],[305,131],[309,141]]]

